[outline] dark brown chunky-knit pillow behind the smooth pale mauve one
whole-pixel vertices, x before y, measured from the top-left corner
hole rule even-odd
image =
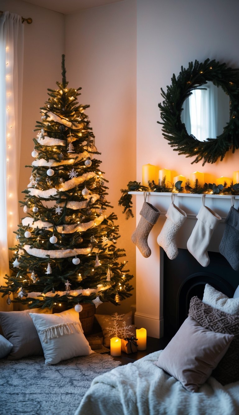
[[[239,381],[239,316],[212,308],[202,303],[198,297],[191,299],[189,315],[208,330],[234,334],[227,353],[212,372],[212,376],[222,385]]]

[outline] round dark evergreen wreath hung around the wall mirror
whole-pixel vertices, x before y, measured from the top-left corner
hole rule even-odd
[[[171,78],[172,84],[167,86],[166,93],[161,88],[163,102],[159,103],[163,137],[173,151],[185,154],[186,157],[195,157],[193,163],[203,161],[215,163],[219,158],[222,161],[226,152],[232,153],[239,148],[239,69],[229,68],[226,63],[219,63],[206,59],[203,63],[195,60],[189,62],[188,68],[181,66],[176,78]],[[193,134],[188,134],[185,124],[181,121],[183,103],[192,94],[192,90],[212,81],[216,86],[222,87],[230,98],[230,119],[221,135],[207,138],[201,142]]]

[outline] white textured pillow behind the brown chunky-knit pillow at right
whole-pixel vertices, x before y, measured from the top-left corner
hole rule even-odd
[[[239,298],[228,298],[209,284],[205,285],[202,303],[232,315],[239,315]]]

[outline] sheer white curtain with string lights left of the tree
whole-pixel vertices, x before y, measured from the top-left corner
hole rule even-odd
[[[24,24],[22,17],[0,17],[0,285],[9,274],[9,256],[16,243],[18,178],[21,144]],[[0,310],[11,310],[0,297]]]

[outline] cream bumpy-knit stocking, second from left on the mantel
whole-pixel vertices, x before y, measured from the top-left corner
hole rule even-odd
[[[171,203],[166,213],[167,219],[157,237],[158,244],[166,252],[169,259],[175,259],[178,255],[175,237],[186,217],[187,215],[183,210]]]

